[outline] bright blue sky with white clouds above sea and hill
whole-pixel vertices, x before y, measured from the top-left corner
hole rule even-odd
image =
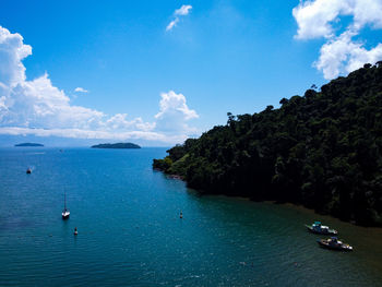
[[[171,146],[382,60],[382,0],[0,0],[0,146]]]

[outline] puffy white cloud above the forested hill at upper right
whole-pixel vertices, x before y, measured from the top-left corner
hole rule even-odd
[[[362,28],[382,28],[382,0],[311,0],[301,1],[293,10],[297,21],[297,39],[325,38],[320,58],[314,67],[325,79],[333,79],[344,72],[351,72],[366,62],[382,59],[382,46],[371,49],[365,43],[355,41]],[[341,16],[351,16],[351,23],[339,33],[336,24]]]

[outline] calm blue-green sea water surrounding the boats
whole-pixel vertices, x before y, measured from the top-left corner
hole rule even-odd
[[[1,148],[0,286],[382,286],[381,229],[200,196],[152,170],[165,151]],[[319,248],[315,219],[355,251]]]

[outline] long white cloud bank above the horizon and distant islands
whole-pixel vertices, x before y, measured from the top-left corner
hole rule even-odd
[[[20,34],[0,26],[0,134],[178,143],[192,130],[186,121],[198,117],[186,105],[186,97],[171,91],[162,94],[160,110],[154,122],[145,122],[140,117],[129,119],[127,113],[108,116],[71,105],[70,98],[52,85],[47,73],[32,81],[26,79],[22,60],[29,55],[32,47],[23,43]],[[77,87],[75,92],[87,91]],[[164,122],[167,130],[160,129]]]

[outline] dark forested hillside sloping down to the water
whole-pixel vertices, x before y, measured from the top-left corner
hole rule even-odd
[[[168,150],[153,167],[207,193],[293,202],[382,224],[382,63]]]

